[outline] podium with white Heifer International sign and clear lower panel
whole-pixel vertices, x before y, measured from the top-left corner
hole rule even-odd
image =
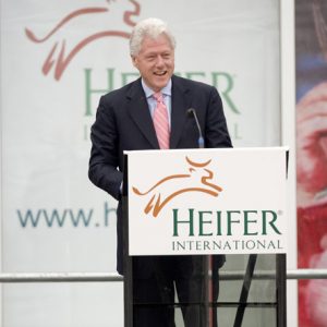
[[[284,327],[288,149],[124,160],[124,326]]]

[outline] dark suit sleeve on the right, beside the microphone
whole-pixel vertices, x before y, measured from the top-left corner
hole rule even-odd
[[[210,87],[208,110],[205,120],[206,147],[232,147],[223,113],[221,98],[215,87]]]

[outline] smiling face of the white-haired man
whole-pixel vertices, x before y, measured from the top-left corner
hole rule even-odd
[[[174,69],[174,51],[165,34],[145,37],[138,55],[132,57],[145,84],[155,92],[165,87]]]

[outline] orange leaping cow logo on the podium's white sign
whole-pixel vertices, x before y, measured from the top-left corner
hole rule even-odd
[[[214,172],[206,168],[211,159],[206,162],[194,162],[185,157],[185,160],[187,173],[168,175],[144,192],[135,186],[132,187],[136,195],[149,198],[144,208],[146,215],[150,214],[156,218],[168,203],[183,193],[198,192],[217,197],[222,191],[213,182]],[[171,190],[175,191],[171,192]]]

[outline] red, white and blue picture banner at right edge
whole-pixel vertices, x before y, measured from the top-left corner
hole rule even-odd
[[[295,1],[299,268],[327,268],[327,2]],[[299,326],[327,326],[327,280],[299,283]]]

